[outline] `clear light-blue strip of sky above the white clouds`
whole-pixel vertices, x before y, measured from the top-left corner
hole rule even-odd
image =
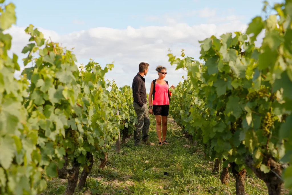
[[[234,9],[236,15],[244,16],[244,23],[261,13],[261,0],[13,0],[16,5],[17,25],[26,27],[33,24],[60,34],[87,30],[93,27],[125,29],[128,25],[163,25],[147,17],[162,17],[168,14],[192,13],[203,8],[227,11]],[[274,1],[269,1],[274,2]],[[224,15],[224,14],[222,14]],[[225,14],[226,15],[226,14]],[[189,25],[204,23],[205,18],[183,16],[182,21]]]

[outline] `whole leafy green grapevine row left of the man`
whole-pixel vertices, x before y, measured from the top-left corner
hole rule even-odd
[[[48,178],[68,179],[65,194],[73,194],[78,179],[78,190],[85,186],[94,159],[106,161],[119,131],[134,127],[131,98],[122,94],[131,94],[131,89],[124,86],[119,91],[114,84],[109,91],[104,77],[113,64],[102,68],[90,60],[77,67],[72,51],[44,39],[33,25],[25,29],[30,38],[22,50],[27,54],[23,64],[32,67],[16,80],[18,57],[7,56],[12,37],[3,34],[15,24],[14,9],[10,3],[1,8],[0,16],[5,21],[0,32],[0,151],[5,154],[0,157],[0,191],[38,194],[46,188],[44,173]]]

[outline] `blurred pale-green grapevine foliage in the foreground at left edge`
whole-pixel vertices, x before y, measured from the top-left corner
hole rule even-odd
[[[0,194],[37,194],[46,188],[41,172],[40,149],[36,147],[38,131],[27,121],[24,107],[29,96],[26,76],[14,78],[18,56],[10,58],[12,37],[4,31],[15,24],[15,6],[3,6],[0,15]],[[17,174],[16,174],[17,173]]]

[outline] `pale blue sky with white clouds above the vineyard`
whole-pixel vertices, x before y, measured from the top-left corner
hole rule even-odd
[[[24,30],[32,24],[45,38],[68,49],[74,47],[77,65],[90,58],[102,67],[114,61],[106,79],[115,80],[118,87],[132,86],[139,63],[149,63],[145,76],[148,93],[151,81],[158,77],[157,65],[167,68],[165,80],[170,86],[186,75],[170,65],[168,49],[177,56],[185,49],[186,56],[199,60],[199,40],[245,32],[252,18],[265,16],[262,0],[6,0],[5,4],[9,2],[15,4],[17,17],[16,25],[7,30],[13,38],[10,54],[19,56],[22,70],[25,55],[21,51],[29,43]]]

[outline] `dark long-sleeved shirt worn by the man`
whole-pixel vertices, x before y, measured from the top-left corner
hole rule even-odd
[[[139,73],[133,79],[133,98],[134,102],[138,103],[140,107],[147,103],[147,94],[145,87],[145,78],[142,77]]]

